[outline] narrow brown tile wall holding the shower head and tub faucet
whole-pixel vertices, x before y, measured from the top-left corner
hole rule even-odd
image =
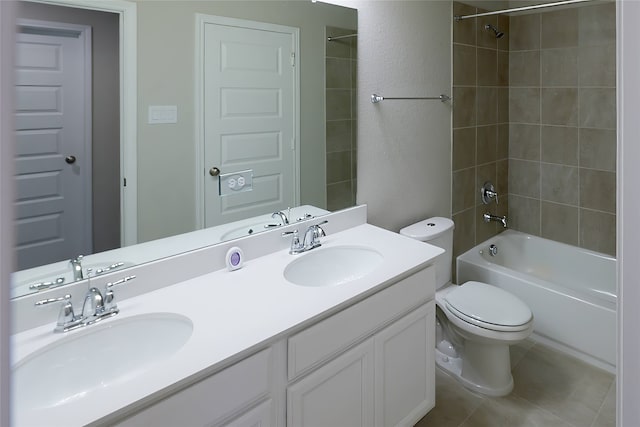
[[[483,12],[454,2],[454,15]],[[505,36],[484,29],[492,24]],[[502,230],[482,214],[506,215],[509,153],[509,22],[487,17],[454,22],[452,213],[454,260]],[[484,205],[480,186],[492,181],[499,204]]]

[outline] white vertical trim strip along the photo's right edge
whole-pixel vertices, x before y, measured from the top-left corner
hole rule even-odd
[[[640,2],[617,4],[617,111],[618,111],[618,359],[616,382],[616,422],[618,426],[637,425],[640,420],[640,301],[637,262],[640,253]],[[625,184],[626,183],[626,184]]]

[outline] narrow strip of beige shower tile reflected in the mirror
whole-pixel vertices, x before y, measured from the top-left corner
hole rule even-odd
[[[356,30],[327,27],[327,37]],[[349,37],[326,44],[327,209],[356,202],[356,46]]]

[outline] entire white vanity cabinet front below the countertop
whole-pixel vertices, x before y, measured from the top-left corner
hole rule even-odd
[[[428,267],[115,425],[414,425],[435,405],[434,295]]]

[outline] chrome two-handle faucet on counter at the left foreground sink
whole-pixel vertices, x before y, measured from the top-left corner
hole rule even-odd
[[[36,302],[35,305],[36,307],[42,307],[53,303],[62,303],[60,313],[58,314],[58,322],[56,323],[56,327],[53,331],[71,331],[118,314],[120,310],[114,302],[115,297],[111,288],[135,278],[136,276],[127,276],[113,283],[107,283],[104,289],[104,294],[96,287],[90,288],[84,296],[82,312],[79,315],[76,315],[73,311],[71,295],[69,294],[59,298],[40,300]]]

